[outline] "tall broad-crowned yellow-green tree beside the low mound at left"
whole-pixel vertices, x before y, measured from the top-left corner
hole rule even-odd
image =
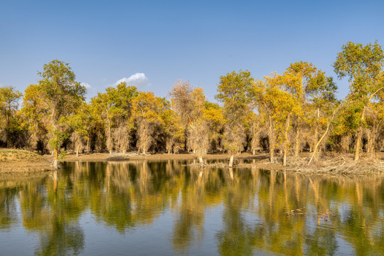
[[[43,72],[38,75],[41,77],[38,85],[27,88],[24,112],[29,117],[36,117],[38,122],[44,122],[48,131],[48,144],[57,163],[60,146],[70,136],[67,118],[85,100],[86,89],[80,82],[76,82],[75,73],[69,64],[60,60],[45,64]],[[33,124],[33,129],[36,126],[38,124]]]

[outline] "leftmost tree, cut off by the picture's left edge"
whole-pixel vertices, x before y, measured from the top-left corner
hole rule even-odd
[[[15,118],[18,108],[18,101],[23,94],[12,86],[0,87],[0,117],[4,120],[4,124],[0,129],[4,130],[4,140],[6,147],[9,147],[9,139],[11,134],[11,121]],[[0,122],[1,124],[1,122]]]

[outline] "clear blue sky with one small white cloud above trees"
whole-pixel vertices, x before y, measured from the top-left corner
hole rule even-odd
[[[88,97],[127,80],[165,97],[176,80],[214,101],[220,75],[282,73],[299,60],[336,80],[348,41],[384,45],[384,1],[1,1],[0,85],[25,90],[70,63]],[[348,82],[336,80],[338,97]]]

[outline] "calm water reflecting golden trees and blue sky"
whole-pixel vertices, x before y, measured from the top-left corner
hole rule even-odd
[[[0,255],[384,255],[383,176],[68,162],[0,176]]]

